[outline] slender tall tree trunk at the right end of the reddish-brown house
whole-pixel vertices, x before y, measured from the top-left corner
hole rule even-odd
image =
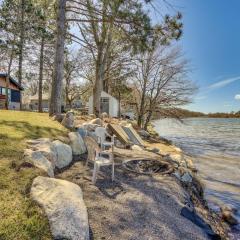
[[[25,0],[21,0],[21,22],[20,22],[20,43],[19,43],[19,63],[18,63],[18,81],[22,85],[22,65],[23,65],[23,47],[24,47],[24,12],[25,12]],[[22,94],[20,91],[20,109],[22,110]]]

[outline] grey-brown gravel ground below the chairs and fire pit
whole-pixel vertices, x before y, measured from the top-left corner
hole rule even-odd
[[[56,176],[82,188],[91,239],[208,239],[202,229],[180,215],[188,195],[175,178],[136,175],[118,165],[114,182],[110,168],[103,167],[93,185],[92,168],[80,161]]]

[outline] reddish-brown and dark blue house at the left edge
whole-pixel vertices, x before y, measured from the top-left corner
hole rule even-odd
[[[6,73],[0,73],[0,109],[5,109],[7,83]],[[23,87],[12,77],[10,77],[10,84],[8,87],[8,108],[12,110],[20,109],[20,92],[23,91]]]

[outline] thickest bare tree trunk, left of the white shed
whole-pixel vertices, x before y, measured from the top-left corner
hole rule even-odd
[[[66,0],[58,2],[57,39],[52,81],[49,115],[61,113],[62,81],[64,75],[64,43],[65,43]]]

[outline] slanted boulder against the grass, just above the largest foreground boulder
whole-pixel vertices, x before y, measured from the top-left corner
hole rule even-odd
[[[42,169],[49,177],[54,177],[54,169],[51,162],[41,152],[25,149],[24,159],[35,167]]]

